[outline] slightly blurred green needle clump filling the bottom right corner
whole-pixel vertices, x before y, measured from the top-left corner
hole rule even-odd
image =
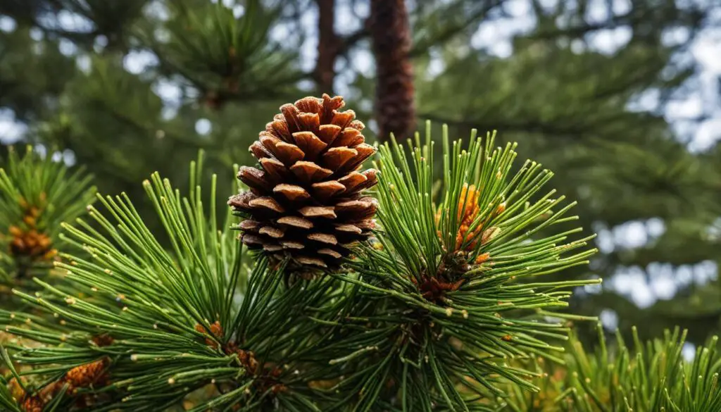
[[[598,325],[596,349],[585,349],[575,335],[565,366],[536,361],[538,394],[511,388],[503,411],[697,411],[721,408],[718,338],[699,346],[693,359],[682,355],[686,331],[666,330],[642,342],[633,329],[632,347],[616,332],[609,347]]]

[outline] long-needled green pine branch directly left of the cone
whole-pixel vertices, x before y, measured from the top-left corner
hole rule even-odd
[[[43,292],[14,291],[41,315],[0,312],[9,333],[40,343],[6,346],[12,361],[30,367],[21,373],[29,380],[21,403],[162,411],[213,385],[216,395],[194,410],[320,410],[308,409],[309,382],[328,375],[324,356],[335,354],[305,335],[327,325],[300,314],[342,289],[331,278],[286,286],[283,266],[269,268],[263,258],[248,268],[230,211],[218,226],[215,177],[203,201],[201,163],[191,165],[187,197],[157,173],[143,183],[169,248],[125,195],[98,196],[105,212],[91,207],[94,224],[63,225],[63,237],[87,257],[63,254],[61,284],[35,279]]]

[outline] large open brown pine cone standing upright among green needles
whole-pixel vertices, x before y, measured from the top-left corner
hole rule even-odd
[[[376,170],[359,172],[376,152],[342,97],[305,97],[280,108],[250,146],[260,168],[241,167],[250,190],[229,205],[246,217],[242,242],[276,262],[334,268],[375,225],[376,201],[361,195]]]

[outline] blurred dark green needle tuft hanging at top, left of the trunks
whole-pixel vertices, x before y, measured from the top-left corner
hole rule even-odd
[[[156,53],[162,72],[180,74],[211,108],[283,95],[308,76],[293,69],[294,53],[268,43],[278,10],[260,1],[248,1],[238,19],[222,2],[193,9],[180,2],[172,14],[164,25],[167,41],[156,39],[154,28],[139,38]]]

